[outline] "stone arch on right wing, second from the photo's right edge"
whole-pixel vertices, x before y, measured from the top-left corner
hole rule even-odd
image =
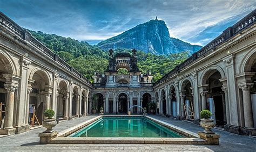
[[[213,73],[215,73],[215,71],[218,71],[220,73],[221,78],[225,77],[225,73],[222,68],[220,68],[217,65],[212,65],[203,71],[199,79],[199,84],[200,85],[206,84],[207,78],[210,77]]]

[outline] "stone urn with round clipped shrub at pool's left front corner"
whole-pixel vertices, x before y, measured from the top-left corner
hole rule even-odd
[[[46,131],[44,131],[44,133],[52,133],[52,127],[55,127],[57,125],[57,121],[54,117],[55,112],[51,109],[46,109],[44,111],[44,116],[46,117],[46,119],[44,119],[43,121],[43,127],[47,128]]]

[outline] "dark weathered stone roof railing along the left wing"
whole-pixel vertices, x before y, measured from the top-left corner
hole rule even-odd
[[[28,42],[32,47],[36,48],[36,50],[45,56],[49,57],[55,62],[58,62],[63,68],[70,70],[70,72],[78,78],[83,79],[84,82],[91,85],[90,81],[85,78],[82,74],[80,74],[76,69],[73,69],[68,63],[66,63],[63,59],[61,59],[57,54],[53,53],[48,47],[44,46],[41,42],[39,42],[35,37],[31,35],[30,32],[16,24],[10,18],[5,16],[2,12],[0,12],[0,27],[3,27],[5,30],[14,34],[17,38],[20,38],[26,42]]]

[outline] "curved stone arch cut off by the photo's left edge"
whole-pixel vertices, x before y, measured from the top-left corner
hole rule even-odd
[[[9,55],[8,52],[5,51],[5,49],[0,49],[0,63],[4,65],[6,64],[6,62],[9,63],[9,65],[5,67],[8,68],[8,73],[18,75],[17,68],[15,66],[14,60],[12,60],[12,57]]]

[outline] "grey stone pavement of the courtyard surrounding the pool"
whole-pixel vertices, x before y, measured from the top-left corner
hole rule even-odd
[[[150,116],[150,115],[149,115]],[[96,117],[89,115],[71,121],[64,121],[54,129],[63,131],[83,121]],[[151,117],[179,126],[191,132],[202,131],[198,125],[156,115]],[[39,144],[38,133],[45,128],[0,138],[0,151],[256,151],[256,139],[248,136],[213,129],[221,135],[219,146],[182,144]]]

